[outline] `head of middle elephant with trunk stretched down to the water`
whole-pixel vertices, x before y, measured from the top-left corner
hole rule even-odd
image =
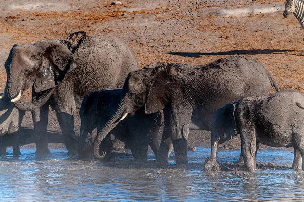
[[[99,146],[107,134],[126,116],[133,115],[144,107],[146,114],[164,109],[176,100],[183,100],[183,87],[187,79],[184,69],[177,65],[156,66],[130,72],[125,80],[118,106],[111,114],[108,122],[103,126],[94,140],[94,155],[103,158],[105,153],[99,154]]]

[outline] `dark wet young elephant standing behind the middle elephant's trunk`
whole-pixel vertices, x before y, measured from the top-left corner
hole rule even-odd
[[[86,97],[79,111],[81,128],[79,136],[79,154],[92,154],[92,131],[97,127],[101,130],[110,118],[111,111],[116,109],[122,89],[107,89],[100,92],[92,92]],[[155,156],[159,147],[157,136],[161,125],[160,112],[145,114],[144,108],[138,110],[133,116],[128,116],[121,121],[103,140],[100,151],[105,151],[103,160],[110,160],[110,134],[123,141],[132,151],[136,161],[147,161],[148,145]]]

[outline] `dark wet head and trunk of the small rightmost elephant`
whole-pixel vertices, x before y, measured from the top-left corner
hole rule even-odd
[[[211,159],[216,160],[218,143],[224,143],[237,134],[234,112],[236,106],[228,103],[216,110],[211,122]]]

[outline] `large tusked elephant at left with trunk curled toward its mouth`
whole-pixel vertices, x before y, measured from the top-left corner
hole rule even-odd
[[[93,91],[121,88],[128,73],[138,69],[131,47],[121,39],[86,36],[73,54],[74,47],[53,39],[14,45],[5,62],[11,100],[32,88],[32,102],[21,98],[14,104],[21,110],[33,110],[36,154],[50,153],[46,139],[49,105],[56,111],[69,154],[75,154],[75,109]]]

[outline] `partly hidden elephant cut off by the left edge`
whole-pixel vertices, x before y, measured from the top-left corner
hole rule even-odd
[[[9,136],[13,136],[13,155],[20,153],[18,129],[25,111],[18,110],[8,98],[0,100],[0,155],[6,155]]]

